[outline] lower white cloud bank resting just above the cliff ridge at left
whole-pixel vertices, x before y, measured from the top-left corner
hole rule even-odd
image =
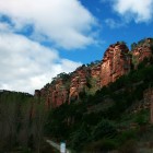
[[[1,31],[0,55],[2,90],[33,93],[58,73],[71,72],[81,64],[60,58],[57,50],[44,47],[25,36]]]

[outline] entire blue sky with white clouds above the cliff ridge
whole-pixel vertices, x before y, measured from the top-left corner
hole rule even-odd
[[[34,93],[110,44],[145,37],[153,0],[0,0],[0,89]]]

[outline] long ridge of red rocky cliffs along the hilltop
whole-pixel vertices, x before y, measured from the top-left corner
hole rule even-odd
[[[83,64],[69,74],[58,74],[51,83],[46,84],[40,91],[36,90],[35,96],[44,98],[47,108],[80,101],[80,95],[94,94],[101,87],[130,72],[133,63],[137,69],[138,63],[145,57],[152,57],[152,51],[151,38],[134,44],[132,51],[129,51],[125,43],[118,42],[107,48],[102,61]]]

